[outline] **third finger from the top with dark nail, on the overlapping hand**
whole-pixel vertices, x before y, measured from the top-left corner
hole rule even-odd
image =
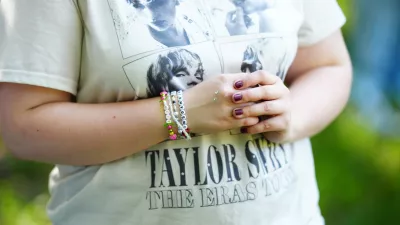
[[[232,115],[236,118],[279,115],[287,111],[286,105],[284,100],[264,101],[244,108],[236,108],[232,111]]]

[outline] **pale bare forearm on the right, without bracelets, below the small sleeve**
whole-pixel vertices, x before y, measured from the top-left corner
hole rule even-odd
[[[291,141],[322,131],[343,110],[351,89],[351,66],[320,67],[290,84]]]

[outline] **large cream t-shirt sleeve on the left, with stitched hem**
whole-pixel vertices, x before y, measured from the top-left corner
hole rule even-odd
[[[0,82],[77,92],[82,23],[74,0],[1,0]]]

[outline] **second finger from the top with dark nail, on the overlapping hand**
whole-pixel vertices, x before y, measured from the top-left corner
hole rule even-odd
[[[234,103],[257,102],[282,98],[287,88],[281,85],[265,85],[243,90],[232,95]]]

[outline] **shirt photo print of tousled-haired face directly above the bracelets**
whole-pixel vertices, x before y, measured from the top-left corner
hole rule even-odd
[[[133,61],[123,68],[139,98],[156,97],[162,91],[187,90],[207,79],[207,76],[222,73],[217,51],[204,49],[215,48],[211,42],[170,48]],[[147,88],[139,88],[144,86]]]

